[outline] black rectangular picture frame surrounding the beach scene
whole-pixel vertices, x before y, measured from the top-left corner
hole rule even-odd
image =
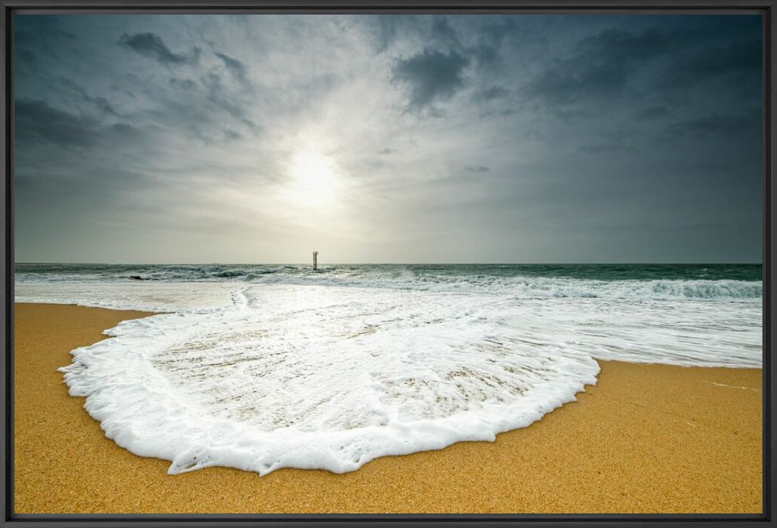
[[[2,229],[0,246],[0,286],[5,295],[0,306],[3,326],[2,375],[2,434],[0,447],[4,456],[0,461],[2,473],[2,498],[0,498],[0,526],[315,526],[346,524],[347,526],[525,526],[549,528],[552,526],[699,526],[715,523],[715,526],[777,526],[774,518],[777,494],[773,488],[777,476],[777,464],[772,457],[777,439],[775,420],[775,362],[772,354],[777,350],[772,332],[775,323],[775,218],[772,214],[777,203],[777,191],[773,185],[775,174],[775,138],[777,117],[772,111],[777,97],[775,74],[775,42],[777,33],[777,0],[0,0],[2,21],[2,120],[0,131],[0,159],[4,174],[0,183],[0,208]],[[16,13],[636,13],[672,12],[719,13],[758,12],[763,17],[763,512],[761,514],[688,514],[688,515],[632,515],[632,514],[497,514],[497,515],[19,515],[13,511],[13,16]],[[57,492],[52,490],[52,493]]]

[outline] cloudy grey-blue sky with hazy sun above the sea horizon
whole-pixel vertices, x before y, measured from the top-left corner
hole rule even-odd
[[[17,262],[761,262],[758,15],[16,15]]]

